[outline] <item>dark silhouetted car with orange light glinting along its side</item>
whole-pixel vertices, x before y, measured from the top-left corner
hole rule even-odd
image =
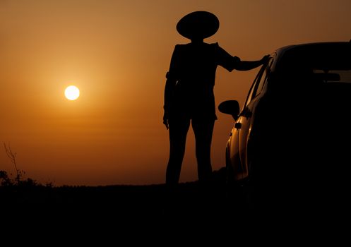
[[[218,110],[234,119],[227,182],[250,207],[316,207],[350,194],[351,41],[276,49],[242,108],[227,100]]]

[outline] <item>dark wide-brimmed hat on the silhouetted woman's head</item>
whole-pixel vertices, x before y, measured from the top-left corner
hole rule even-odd
[[[218,28],[220,28],[220,21],[217,16],[207,11],[191,12],[177,23],[179,34],[190,40],[210,37],[217,32]]]

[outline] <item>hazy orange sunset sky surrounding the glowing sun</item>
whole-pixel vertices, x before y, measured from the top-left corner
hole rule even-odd
[[[206,42],[233,56],[261,59],[278,47],[351,39],[350,0],[0,0],[0,170],[41,183],[164,183],[168,133],[162,125],[165,73],[175,26],[191,11],[220,20]],[[215,100],[242,106],[258,68],[218,67]],[[76,85],[81,97],[66,100]],[[213,169],[225,166],[230,116],[218,112]],[[194,181],[189,131],[181,181]]]

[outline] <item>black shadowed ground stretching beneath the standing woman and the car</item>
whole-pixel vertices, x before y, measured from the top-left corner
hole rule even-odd
[[[185,241],[180,245],[186,246],[189,239],[196,243],[214,239],[216,246],[225,246],[258,239],[278,241],[277,237],[289,243],[306,238],[315,243],[323,236],[335,243],[350,230],[350,208],[342,210],[345,205],[339,207],[328,198],[310,204],[298,196],[282,204],[276,195],[269,205],[253,208],[243,188],[229,188],[224,177],[216,174],[209,187],[195,181],[172,191],[165,184],[0,187],[1,233],[36,240],[118,243],[124,239],[130,245],[160,242],[163,246],[171,245],[169,241]]]

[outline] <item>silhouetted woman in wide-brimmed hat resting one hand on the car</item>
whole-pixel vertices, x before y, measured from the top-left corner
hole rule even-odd
[[[177,23],[179,34],[189,38],[191,43],[175,46],[166,76],[163,123],[169,129],[168,185],[179,182],[190,124],[196,140],[198,181],[211,180],[210,146],[217,119],[213,87],[217,66],[228,71],[248,71],[268,59],[263,56],[259,61],[241,61],[225,52],[218,43],[203,42],[217,32],[219,25],[218,18],[206,11],[189,13]]]

